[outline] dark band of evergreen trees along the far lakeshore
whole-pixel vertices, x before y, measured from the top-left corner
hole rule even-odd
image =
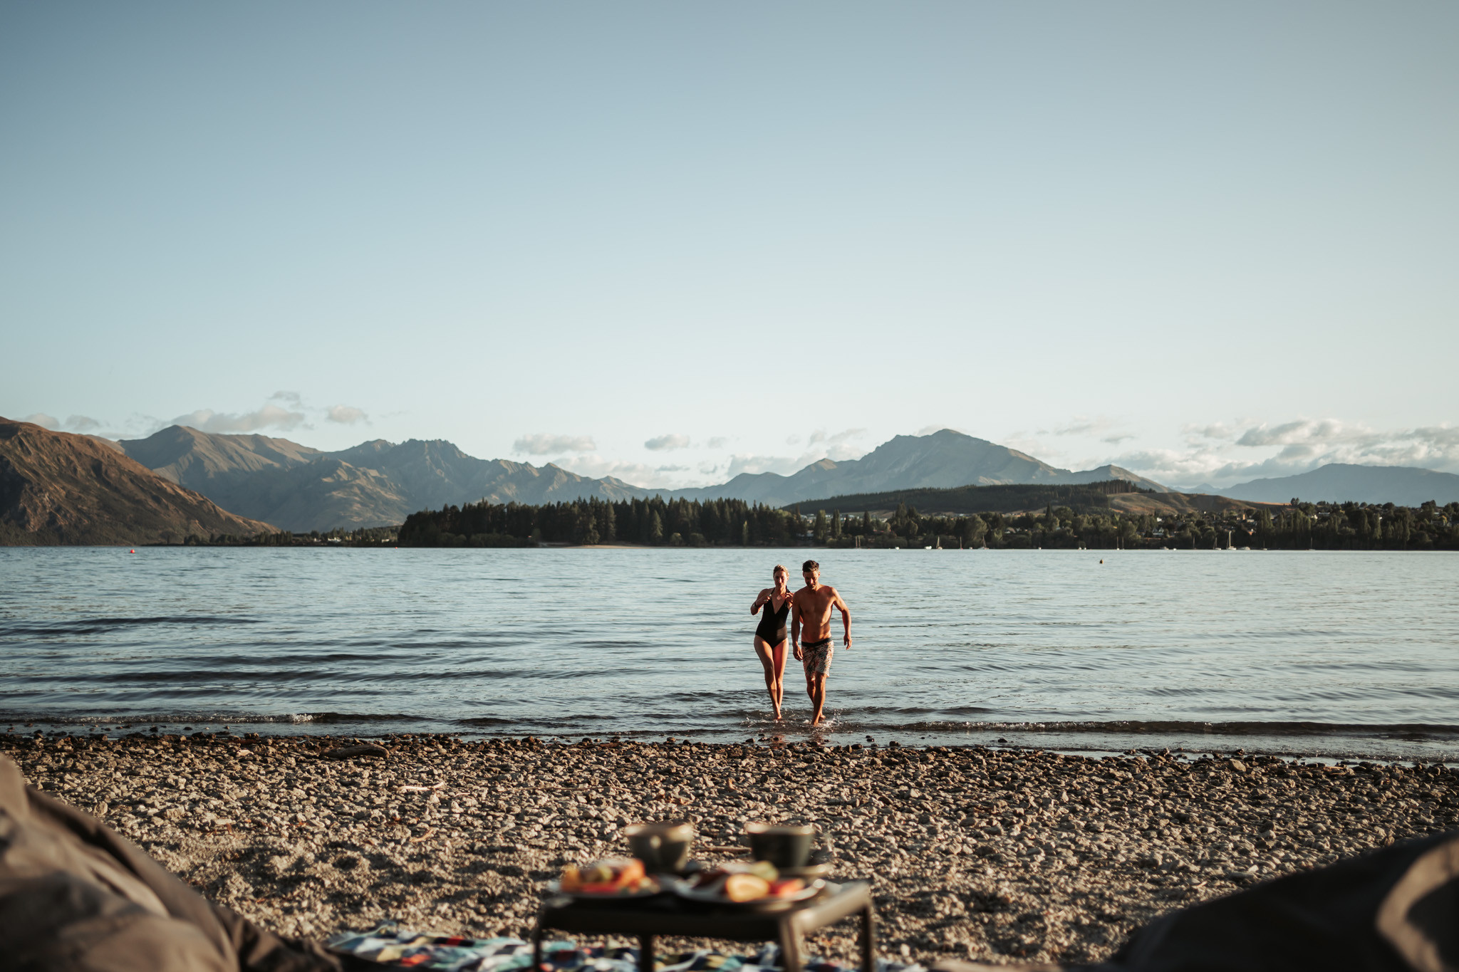
[[[1459,503],[1440,507],[1294,501],[1266,509],[1156,516],[1046,506],[1037,513],[890,516],[836,509],[781,510],[743,500],[576,500],[528,506],[471,503],[422,510],[400,528],[400,546],[829,546],[961,549],[1459,549]]]

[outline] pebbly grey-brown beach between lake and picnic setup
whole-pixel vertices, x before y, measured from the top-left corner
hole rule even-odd
[[[1161,912],[1459,823],[1443,767],[449,736],[336,761],[362,740],[19,732],[0,749],[34,784],[290,936],[524,936],[543,883],[623,854],[624,823],[692,819],[696,857],[727,860],[702,847],[811,820],[835,876],[874,882],[883,955],[1090,962]],[[852,962],[855,927],[808,947]]]

